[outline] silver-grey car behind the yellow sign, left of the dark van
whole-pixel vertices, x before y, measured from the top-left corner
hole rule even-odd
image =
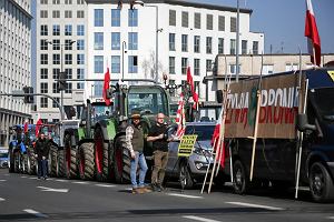
[[[198,182],[203,183],[208,165],[214,162],[210,141],[215,127],[215,122],[186,123],[185,134],[197,134],[193,152],[188,158],[178,157],[180,141],[169,142],[166,178],[178,179],[183,189],[190,189]]]

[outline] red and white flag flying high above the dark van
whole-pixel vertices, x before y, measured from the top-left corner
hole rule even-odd
[[[321,40],[311,0],[306,0],[305,37],[307,37],[308,41],[308,53],[311,54],[311,62],[313,64],[320,65],[322,54]]]

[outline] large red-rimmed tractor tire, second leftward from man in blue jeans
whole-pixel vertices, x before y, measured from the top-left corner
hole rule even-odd
[[[96,129],[94,140],[95,175],[97,181],[107,181],[109,174],[109,142],[108,140],[106,142],[106,138],[104,138],[101,128]]]

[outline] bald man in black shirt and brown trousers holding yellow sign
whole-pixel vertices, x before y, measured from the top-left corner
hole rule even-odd
[[[153,142],[154,149],[154,170],[151,173],[151,185],[155,191],[160,192],[164,190],[163,182],[165,178],[165,170],[168,162],[168,141],[167,123],[165,123],[165,114],[157,114],[157,122],[151,127],[147,141]]]

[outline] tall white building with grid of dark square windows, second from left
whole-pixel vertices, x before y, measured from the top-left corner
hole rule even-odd
[[[87,4],[85,0],[38,0],[36,12],[36,91],[63,103],[66,112],[72,105],[80,112],[84,103],[84,82],[68,81],[61,93],[58,89],[59,73],[67,79],[85,79],[89,58],[87,52]],[[38,97],[35,122],[40,117],[43,122],[60,119],[57,102]]]

